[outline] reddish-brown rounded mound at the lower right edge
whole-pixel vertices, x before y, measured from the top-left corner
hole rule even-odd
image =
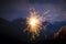
[[[66,25],[62,26],[57,33],[55,33],[55,38],[66,40]]]

